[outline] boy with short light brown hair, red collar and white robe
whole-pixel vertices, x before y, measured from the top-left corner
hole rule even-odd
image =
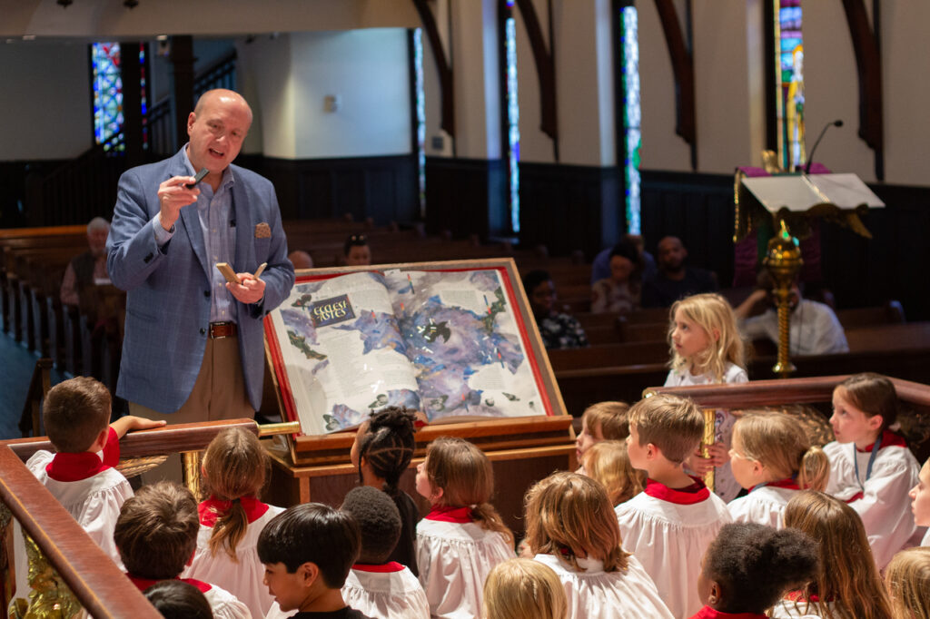
[[[703,435],[704,415],[691,400],[658,394],[633,404],[627,450],[648,479],[642,493],[615,509],[624,546],[679,619],[700,609],[701,558],[731,521],[724,501],[684,472]]]

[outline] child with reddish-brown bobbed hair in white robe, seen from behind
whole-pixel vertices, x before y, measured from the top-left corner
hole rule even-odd
[[[526,493],[526,540],[565,586],[572,619],[671,619],[643,566],[621,546],[613,506],[597,481],[553,473]]]

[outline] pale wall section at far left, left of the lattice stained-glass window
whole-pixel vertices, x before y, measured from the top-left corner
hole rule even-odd
[[[0,161],[69,159],[93,144],[83,43],[0,43],[0,76]]]

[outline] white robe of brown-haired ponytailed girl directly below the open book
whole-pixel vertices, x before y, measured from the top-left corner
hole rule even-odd
[[[433,617],[481,616],[487,574],[513,557],[503,535],[473,522],[424,519],[417,524],[419,582]]]

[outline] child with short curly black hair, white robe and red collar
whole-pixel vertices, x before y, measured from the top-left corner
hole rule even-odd
[[[389,560],[401,537],[401,515],[388,494],[370,486],[352,488],[340,509],[352,514],[362,533],[362,551],[342,586],[354,609],[383,619],[429,619],[430,604],[417,576]]]

